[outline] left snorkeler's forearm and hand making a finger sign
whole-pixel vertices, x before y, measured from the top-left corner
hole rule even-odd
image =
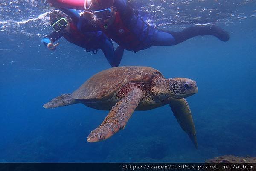
[[[56,47],[60,44],[60,43],[56,43],[54,44],[55,41],[57,41],[59,38],[62,37],[61,33],[58,32],[52,32],[51,34],[47,35],[46,37],[44,37],[41,42],[47,46],[48,49],[51,50],[55,50]]]

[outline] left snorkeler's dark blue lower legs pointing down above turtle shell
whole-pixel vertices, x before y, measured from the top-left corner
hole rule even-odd
[[[118,67],[120,64],[120,61],[122,59],[122,55],[124,52],[124,49],[122,49],[120,46],[116,48],[114,51],[113,43],[111,39],[106,38],[105,42],[102,44],[102,52],[104,53],[105,57],[107,58],[109,64],[112,67]]]

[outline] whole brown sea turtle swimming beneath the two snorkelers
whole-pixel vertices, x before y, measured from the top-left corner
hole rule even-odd
[[[124,66],[103,70],[72,94],[62,94],[44,108],[82,103],[98,110],[110,110],[87,141],[108,139],[124,129],[134,110],[151,110],[169,104],[181,128],[197,148],[195,126],[185,97],[198,93],[195,81],[188,78],[165,79],[151,67]]]

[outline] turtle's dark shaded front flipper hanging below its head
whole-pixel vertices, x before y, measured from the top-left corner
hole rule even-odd
[[[170,101],[170,107],[172,108],[172,112],[180,124],[180,127],[188,134],[189,138],[195,145],[195,148],[198,148],[195,125],[186,99],[172,99]]]

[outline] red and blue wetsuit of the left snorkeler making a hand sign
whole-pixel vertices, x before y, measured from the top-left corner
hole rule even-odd
[[[121,50],[121,53],[116,54],[111,39],[101,31],[81,32],[77,26],[80,18],[79,13],[73,9],[61,8],[61,10],[72,18],[72,22],[70,22],[70,31],[52,32],[47,35],[47,37],[42,39],[42,43],[44,43],[45,46],[50,43],[51,38],[55,42],[59,38],[64,37],[70,43],[86,49],[87,52],[93,51],[93,53],[96,53],[98,49],[102,49],[102,52],[112,67],[117,67],[119,65],[123,51]]]

